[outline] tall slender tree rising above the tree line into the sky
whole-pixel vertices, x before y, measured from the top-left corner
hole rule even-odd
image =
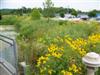
[[[43,3],[43,6],[44,6],[46,17],[48,17],[48,22],[49,22],[49,17],[51,16],[51,14],[53,14],[52,7],[54,6],[54,4],[52,3],[51,0],[45,0],[45,3]]]

